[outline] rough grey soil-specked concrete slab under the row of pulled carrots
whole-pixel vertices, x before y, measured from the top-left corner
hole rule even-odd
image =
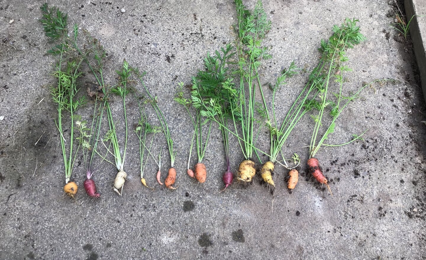
[[[186,175],[192,130],[173,94],[179,81],[190,83],[202,68],[207,51],[233,40],[231,1],[49,1],[69,13],[69,23],[79,23],[104,45],[107,83],[115,83],[114,70],[124,58],[147,71],[147,85],[159,94],[178,151],[178,189],[144,189],[138,140],[130,134],[123,196],[112,191],[116,171],[104,163],[94,176],[102,197],[91,201],[83,192],[81,164],[74,169],[80,185],[74,202],[62,190],[55,106],[49,97],[55,59],[46,54],[52,43],[37,21],[43,2],[0,0],[0,259],[426,259],[425,103],[412,43],[390,26],[402,3],[264,1],[273,24],[265,45],[273,58],[262,63],[262,83],[273,82],[292,60],[300,67],[316,66],[320,39],[345,17],[360,19],[368,38],[348,51],[353,71],[347,74],[347,90],[379,78],[400,81],[363,91],[330,140],[342,143],[369,129],[365,141],[317,154],[331,182],[331,197],[306,174],[304,164],[291,195],[287,170],[280,166],[273,195],[259,177],[219,193],[225,164],[216,130],[205,158],[207,182],[199,185]],[[279,116],[307,76],[295,77],[280,91]],[[129,102],[132,125],[137,109],[134,100]],[[87,116],[89,109],[81,114]],[[119,102],[112,109],[121,120]],[[303,147],[311,128],[306,117],[285,153],[297,152],[305,162]],[[266,136],[262,132],[260,142]],[[165,148],[163,138],[156,142],[155,151]],[[242,160],[235,140],[231,154],[235,171]],[[163,163],[164,169],[170,164],[167,154]],[[148,183],[157,185],[155,165],[149,167]]]

